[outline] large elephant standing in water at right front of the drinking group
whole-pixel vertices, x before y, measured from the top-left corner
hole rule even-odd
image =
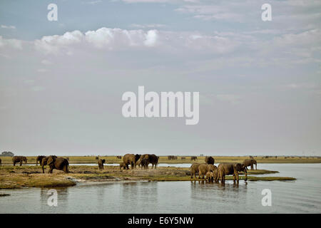
[[[239,182],[238,172],[245,172],[245,181],[248,180],[248,172],[246,167],[240,163],[221,163],[218,165],[218,175],[216,181],[220,180],[221,183],[225,183],[225,175],[233,175],[233,182],[236,180]]]

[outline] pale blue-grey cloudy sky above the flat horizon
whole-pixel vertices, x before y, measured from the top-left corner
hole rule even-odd
[[[321,155],[321,3],[264,3],[1,1],[0,150]],[[199,91],[200,122],[123,118],[138,86]]]

